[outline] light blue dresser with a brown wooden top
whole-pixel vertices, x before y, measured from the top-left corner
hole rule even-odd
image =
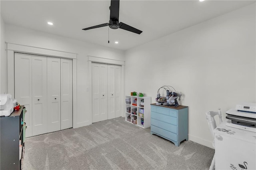
[[[188,140],[188,107],[151,104],[151,134],[170,140],[175,146]]]

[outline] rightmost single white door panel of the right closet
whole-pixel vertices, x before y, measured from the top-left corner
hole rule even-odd
[[[115,65],[115,117],[122,116],[122,67]]]

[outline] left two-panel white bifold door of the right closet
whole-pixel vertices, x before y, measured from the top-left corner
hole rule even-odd
[[[108,66],[92,63],[92,123],[108,119]]]

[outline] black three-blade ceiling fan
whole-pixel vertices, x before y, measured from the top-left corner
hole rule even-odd
[[[142,31],[132,27],[132,26],[128,26],[127,24],[124,24],[122,22],[119,22],[119,2],[120,0],[111,0],[110,2],[110,20],[108,23],[105,24],[100,24],[97,26],[92,26],[92,27],[88,27],[88,28],[84,28],[82,30],[90,30],[90,29],[94,29],[94,28],[100,28],[100,27],[105,27],[105,26],[109,26],[112,29],[118,29],[121,28],[123,30],[126,31],[130,31],[130,32],[134,32],[136,34],[141,34]]]

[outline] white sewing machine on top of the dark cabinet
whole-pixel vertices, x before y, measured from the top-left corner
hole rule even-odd
[[[11,94],[0,94],[0,116],[10,116],[13,112],[16,100]]]

